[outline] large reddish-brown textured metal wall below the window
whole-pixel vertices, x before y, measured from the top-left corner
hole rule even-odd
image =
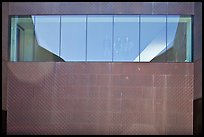
[[[193,134],[193,63],[9,62],[7,134]]]

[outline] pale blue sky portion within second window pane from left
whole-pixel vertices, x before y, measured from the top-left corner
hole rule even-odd
[[[37,42],[44,50],[42,53],[59,56],[60,16],[34,16],[34,20]]]

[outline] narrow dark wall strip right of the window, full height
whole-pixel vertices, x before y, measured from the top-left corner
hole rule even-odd
[[[194,122],[195,135],[202,134],[202,3],[196,2],[194,16]]]

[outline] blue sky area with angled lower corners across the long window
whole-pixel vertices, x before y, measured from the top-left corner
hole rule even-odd
[[[56,55],[61,47],[60,56],[66,61],[85,61],[86,44],[88,61],[112,61],[112,47],[113,61],[139,61],[139,16],[115,15],[113,25],[112,15],[88,15],[87,32],[86,16],[61,16],[61,45],[60,16],[33,20],[38,44]],[[172,46],[179,16],[167,16],[167,21],[166,27],[166,16],[141,16],[140,61],[149,62],[165,52],[166,28],[167,48]]]

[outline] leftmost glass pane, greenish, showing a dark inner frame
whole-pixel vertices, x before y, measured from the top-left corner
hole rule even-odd
[[[34,39],[31,16],[11,17],[10,61],[32,61]]]

